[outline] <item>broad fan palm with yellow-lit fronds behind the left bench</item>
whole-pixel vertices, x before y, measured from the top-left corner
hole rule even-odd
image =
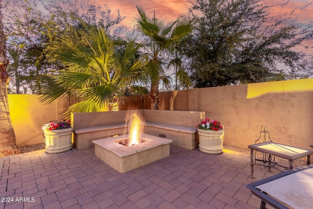
[[[143,79],[146,61],[134,39],[112,41],[104,29],[91,30],[83,42],[75,44],[61,39],[55,57],[66,68],[51,70],[52,74],[41,77],[45,80],[41,101],[74,96],[79,102],[71,105],[66,115],[97,112],[106,103],[111,111],[118,110],[118,97],[123,95],[123,89]]]

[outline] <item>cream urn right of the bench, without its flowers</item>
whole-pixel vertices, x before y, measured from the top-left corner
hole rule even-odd
[[[224,129],[218,131],[198,129],[199,150],[207,154],[223,152]]]

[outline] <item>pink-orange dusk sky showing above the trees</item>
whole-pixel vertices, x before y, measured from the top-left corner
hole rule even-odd
[[[92,0],[91,0],[92,1]],[[103,5],[107,3],[108,7],[112,10],[112,14],[116,15],[116,10],[120,10],[122,16],[126,16],[123,24],[133,27],[134,18],[137,16],[136,5],[144,8],[148,14],[152,14],[155,10],[156,17],[165,20],[175,20],[179,14],[187,13],[190,3],[187,0],[94,0]],[[271,2],[287,2],[288,0],[266,0]],[[290,0],[289,3],[282,9],[280,13],[292,13],[292,17],[297,17],[298,22],[309,23],[313,22],[313,3],[308,5],[312,0]],[[305,7],[308,5],[307,7]],[[305,8],[303,8],[305,7]],[[272,14],[279,13],[279,7],[276,8]],[[311,46],[306,50],[303,47],[298,50],[303,50],[313,55],[313,43],[306,43]]]

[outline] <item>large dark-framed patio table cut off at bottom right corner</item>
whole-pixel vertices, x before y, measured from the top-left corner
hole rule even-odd
[[[312,209],[313,165],[297,167],[246,185],[261,199],[260,209],[266,204],[276,209]]]

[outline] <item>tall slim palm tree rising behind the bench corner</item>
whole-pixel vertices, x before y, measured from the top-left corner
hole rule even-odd
[[[165,65],[167,59],[175,56],[175,47],[193,29],[192,22],[185,16],[180,16],[176,21],[166,23],[157,19],[155,14],[149,17],[145,11],[137,6],[138,17],[136,18],[136,30],[145,38],[145,50],[148,51],[149,63],[146,68],[146,75],[151,82],[150,103],[151,109],[158,109],[159,95],[158,86],[162,80],[165,85],[169,84],[166,75]],[[176,76],[185,84],[190,84],[188,74],[181,68]]]

